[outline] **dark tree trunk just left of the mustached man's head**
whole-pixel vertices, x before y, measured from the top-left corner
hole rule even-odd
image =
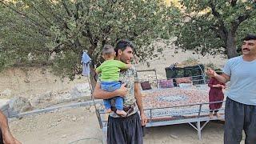
[[[235,33],[229,32],[226,39],[226,53],[228,58],[234,58],[238,56]]]

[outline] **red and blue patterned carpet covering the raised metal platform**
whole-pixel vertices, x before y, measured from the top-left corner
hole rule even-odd
[[[198,116],[199,105],[188,105],[209,102],[209,90],[207,85],[142,90],[143,107],[149,118],[191,118]],[[177,107],[168,108],[171,106]],[[208,104],[201,110],[201,114],[208,114]]]

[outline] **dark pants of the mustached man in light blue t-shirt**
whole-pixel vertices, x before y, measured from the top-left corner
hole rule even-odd
[[[255,144],[256,106],[226,98],[224,144],[240,144],[242,130],[246,133],[246,144]]]

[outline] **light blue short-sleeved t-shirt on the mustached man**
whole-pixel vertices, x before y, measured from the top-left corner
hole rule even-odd
[[[246,62],[242,56],[230,58],[223,72],[230,76],[228,98],[256,106],[256,59]]]

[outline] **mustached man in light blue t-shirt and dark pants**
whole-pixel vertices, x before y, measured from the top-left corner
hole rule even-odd
[[[219,82],[230,81],[225,107],[225,144],[240,144],[242,130],[246,144],[256,143],[256,35],[248,34],[242,42],[242,55],[230,58],[218,75],[207,74]]]

